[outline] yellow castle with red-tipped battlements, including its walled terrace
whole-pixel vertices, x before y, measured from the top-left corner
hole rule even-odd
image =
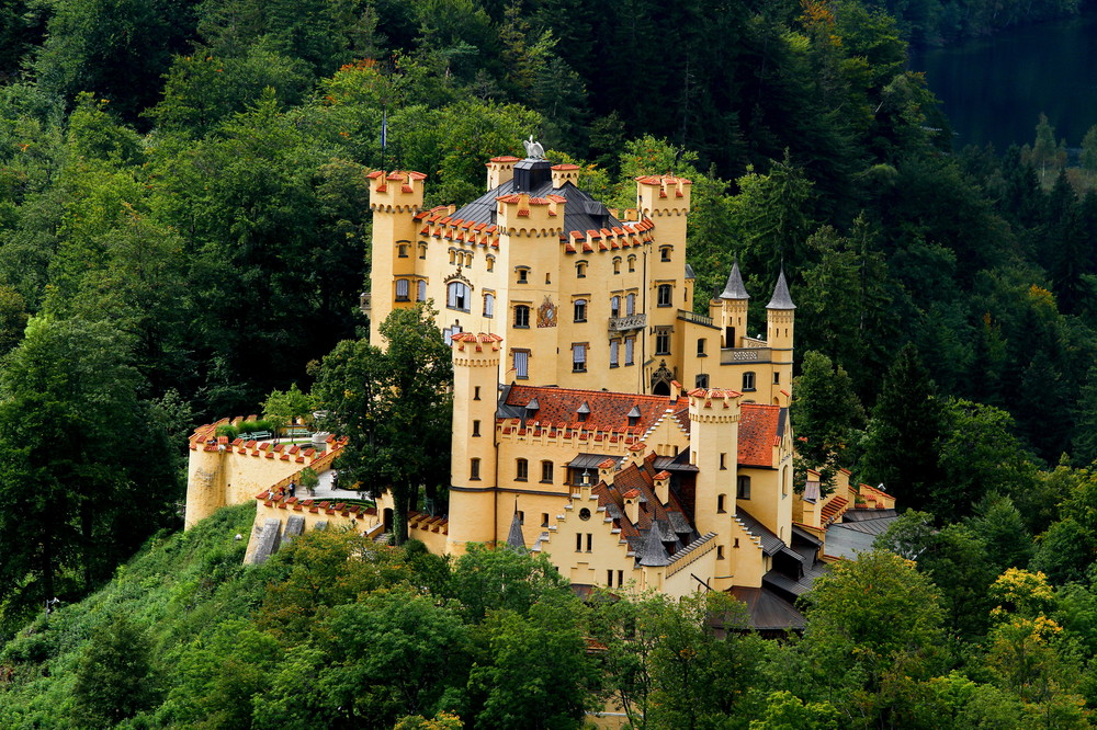
[[[709,315],[693,313],[690,181],[640,178],[636,208],[619,219],[575,185],[577,171],[494,158],[485,195],[430,210],[426,175],[370,175],[363,309],[380,322],[444,303],[437,322],[453,353],[449,514],[409,515],[410,536],[437,554],[476,543],[544,552],[579,589],[730,591],[758,629],[802,626],[792,602],[823,569],[827,528],[893,515],[894,500],[848,472],[827,495],[811,474],[793,488],[795,305],[784,275],[766,339],[747,334],[738,264]],[[246,483],[258,502],[255,559],[319,523],[371,536],[392,525],[387,494],[375,510],[287,497],[278,486],[293,464],[278,483],[272,466],[251,478],[285,454],[217,445],[204,429],[192,437],[188,524]]]

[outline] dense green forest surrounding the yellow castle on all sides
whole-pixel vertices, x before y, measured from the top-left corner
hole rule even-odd
[[[1097,129],[1078,168],[1044,118],[957,150],[906,68],[1082,9],[0,0],[0,727],[1088,727]],[[906,511],[802,637],[511,554],[180,534],[196,424],[341,392],[365,174],[463,203],[530,135],[611,206],[693,181],[699,310],[736,258],[751,321],[789,276],[801,467]]]

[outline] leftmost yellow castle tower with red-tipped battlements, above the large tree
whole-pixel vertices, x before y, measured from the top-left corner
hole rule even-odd
[[[423,180],[421,172],[397,170],[371,172],[370,209],[373,212],[373,250],[371,254],[372,290],[370,292],[370,342],[382,344],[377,324],[385,321],[396,307],[410,307],[411,293],[422,272],[416,271],[419,256],[415,251],[415,216],[422,208]]]

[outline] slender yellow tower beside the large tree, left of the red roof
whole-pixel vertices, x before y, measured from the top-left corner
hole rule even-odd
[[[495,411],[502,338],[453,335],[453,441],[450,458],[450,534],[445,551],[496,537]]]

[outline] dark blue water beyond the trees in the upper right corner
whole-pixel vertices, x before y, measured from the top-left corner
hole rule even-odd
[[[1040,112],[1068,147],[1097,124],[1097,13],[915,50],[911,68],[926,71],[958,150],[1032,144]]]

